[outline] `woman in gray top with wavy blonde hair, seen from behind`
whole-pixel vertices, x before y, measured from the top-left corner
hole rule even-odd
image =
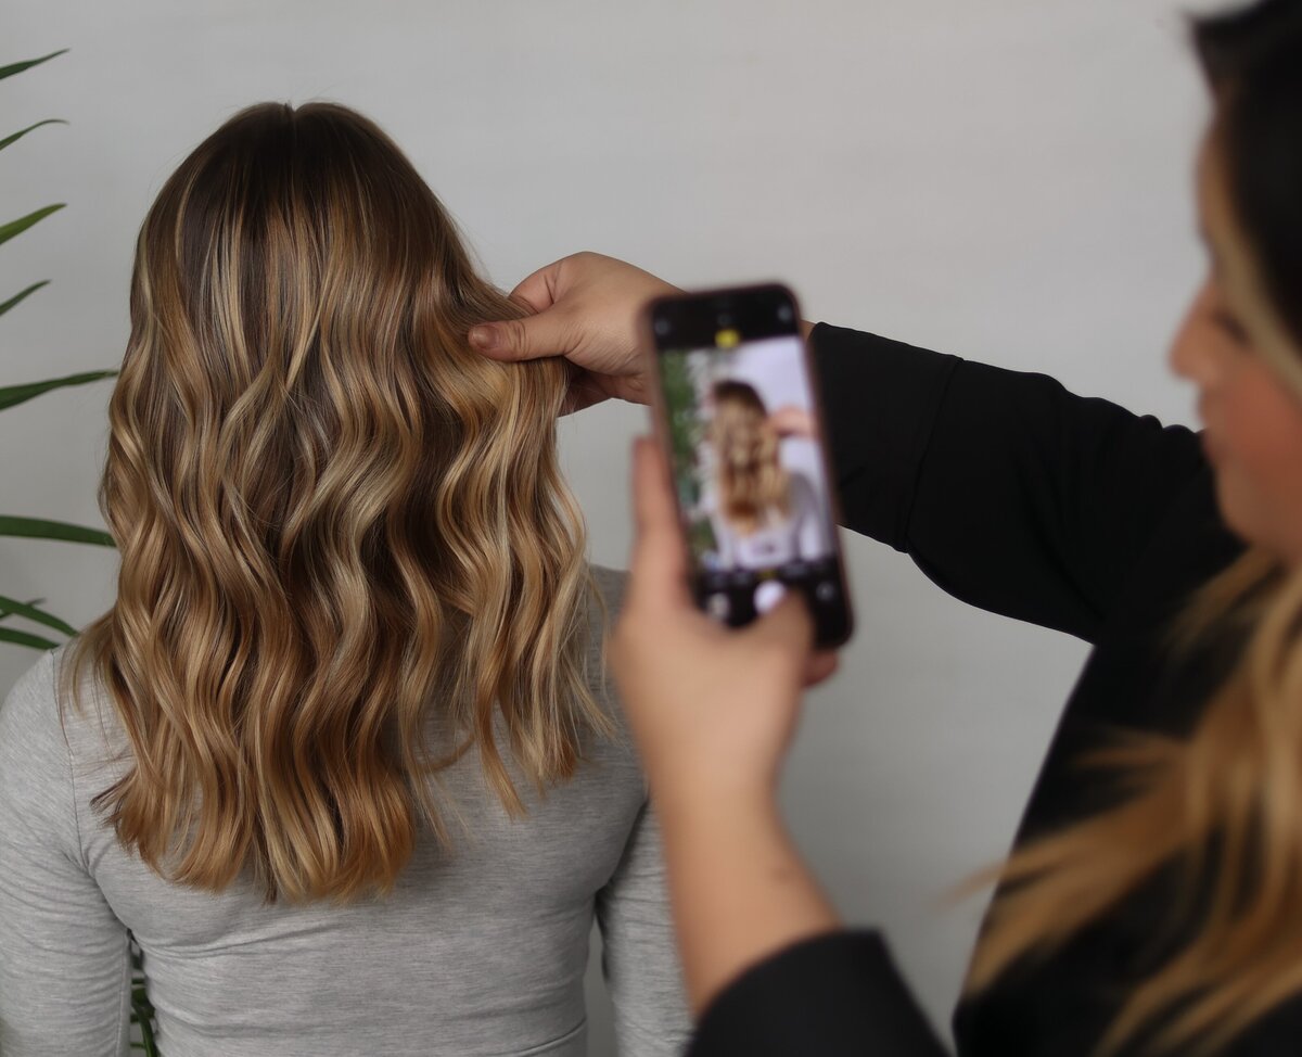
[[[0,1050],[583,1052],[684,1037],[654,821],[603,677],[564,364],[393,142],[250,107],[148,211],[100,504],[117,597],[0,711]]]

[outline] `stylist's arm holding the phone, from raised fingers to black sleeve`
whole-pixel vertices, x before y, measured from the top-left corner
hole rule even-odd
[[[611,657],[664,832],[693,1009],[693,1053],[943,1053],[878,940],[835,911],[776,806],[802,686],[832,673],[812,653],[796,592],[749,627],[700,614],[668,470],[635,452],[637,545]],[[667,665],[665,659],[673,664]]]

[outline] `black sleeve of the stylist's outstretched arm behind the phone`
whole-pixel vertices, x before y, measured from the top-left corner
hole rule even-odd
[[[819,324],[845,525],[941,588],[1095,642],[1172,502],[1195,433],[1021,374]]]

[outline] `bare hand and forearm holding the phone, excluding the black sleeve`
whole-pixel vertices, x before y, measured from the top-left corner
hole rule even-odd
[[[768,810],[794,704],[775,700],[767,724],[750,724],[754,745],[737,741],[728,709],[713,707],[747,691],[772,698],[772,687],[786,685],[798,694],[835,657],[809,659],[811,631],[794,594],[741,631],[700,613],[686,586],[668,469],[650,441],[638,445],[635,479],[638,543],[611,664],[660,817],[684,974],[699,1010],[741,966],[837,924]],[[694,663],[715,653],[725,663]],[[664,687],[658,673],[667,657],[676,672],[702,678]],[[681,724],[671,728],[664,721],[674,713]],[[756,773],[754,759],[772,759],[771,771]]]

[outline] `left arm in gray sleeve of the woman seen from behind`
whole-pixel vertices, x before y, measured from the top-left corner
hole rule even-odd
[[[125,1057],[126,929],[82,855],[52,659],[0,704],[0,1053]]]

